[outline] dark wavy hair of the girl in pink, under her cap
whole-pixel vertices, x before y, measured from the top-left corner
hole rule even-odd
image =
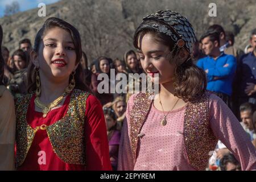
[[[151,28],[150,25],[154,23],[163,24],[164,26],[170,27],[168,24],[159,22],[157,20],[146,20],[142,22],[134,34],[134,47],[141,50],[141,47],[138,47],[138,43],[141,45],[144,35],[152,34],[156,42],[169,47],[170,52],[172,51],[171,56],[175,60],[175,58],[179,55],[179,49],[177,46],[174,46],[174,40],[172,40],[170,36]],[[172,30],[172,27],[170,27],[170,30]],[[175,31],[172,31],[172,33],[179,37]],[[170,63],[171,61],[172,60],[170,60]],[[188,56],[182,64],[178,64],[177,61],[175,61],[175,64],[174,96],[179,97],[184,101],[192,101],[196,97],[201,96],[205,92],[207,86],[207,78],[203,69],[193,64],[191,56]]]

